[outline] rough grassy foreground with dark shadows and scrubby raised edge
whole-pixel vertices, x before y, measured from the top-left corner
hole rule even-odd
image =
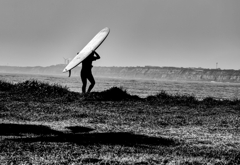
[[[240,164],[240,101],[0,81],[0,164]]]

